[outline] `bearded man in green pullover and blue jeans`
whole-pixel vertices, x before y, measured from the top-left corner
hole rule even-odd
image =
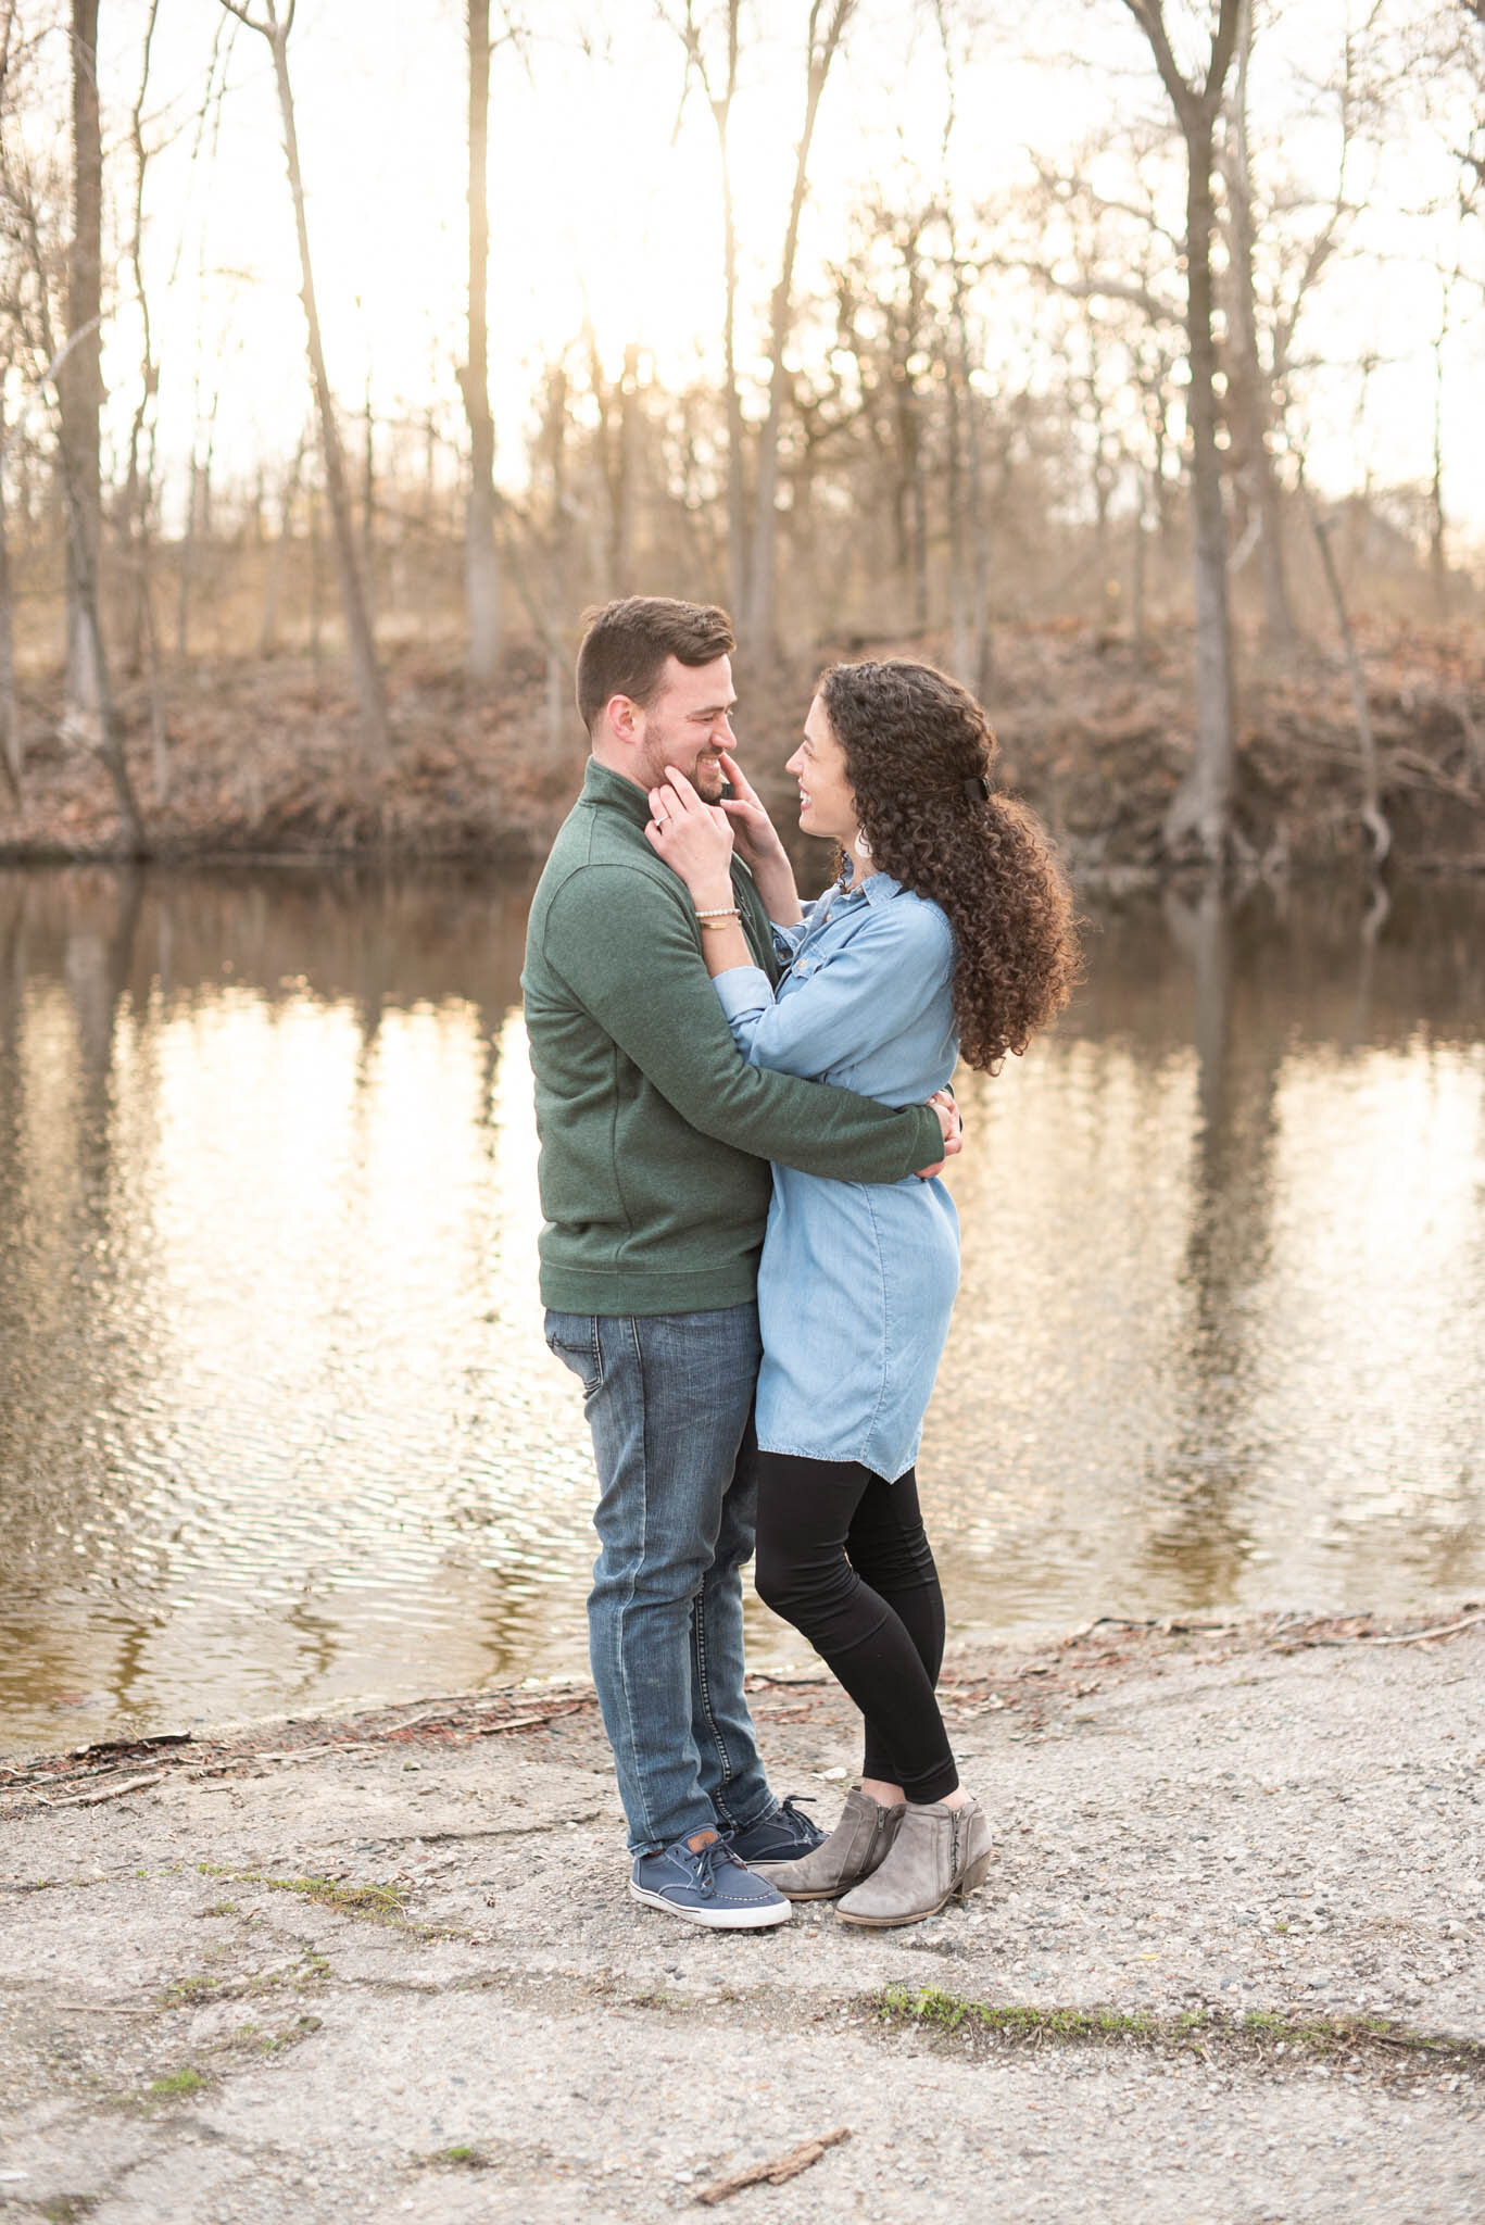
[[[719,1929],[786,1922],[746,1862],[822,1838],[775,1800],[744,1700],[746,1460],[759,1364],[768,1161],[846,1181],[942,1164],[931,1106],[744,1064],[701,963],[706,921],[646,841],[666,768],[717,803],[730,728],[726,612],[608,603],[583,636],[592,756],[532,899],[525,1026],[541,1137],[541,1297],[583,1384],[599,1471],[592,1680],[630,1833],[630,1891]],[[741,859],[732,890],[761,968],[773,934]]]

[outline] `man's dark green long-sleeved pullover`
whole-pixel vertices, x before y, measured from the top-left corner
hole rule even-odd
[[[650,803],[590,759],[525,932],[541,1137],[541,1299],[554,1313],[706,1313],[755,1295],[768,1161],[902,1181],[942,1157],[928,1106],[748,1066],[701,959],[681,881],[646,841]],[[744,930],[777,959],[748,868]]]

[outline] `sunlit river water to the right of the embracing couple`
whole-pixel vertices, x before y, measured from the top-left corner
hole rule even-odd
[[[1058,1039],[973,1086],[924,1462],[971,1615],[1481,1584],[1483,928],[1478,890],[1385,934],[1314,892],[1115,912]]]

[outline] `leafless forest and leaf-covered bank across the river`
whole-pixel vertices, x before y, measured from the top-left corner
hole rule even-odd
[[[178,9],[214,18],[189,102],[158,82]],[[581,612],[652,590],[732,610],[759,768],[824,656],[911,650],[977,688],[1082,866],[1485,863],[1485,490],[1449,436],[1452,385],[1485,392],[1485,0],[1325,31],[1296,0],[1069,0],[1042,60],[1086,78],[1069,38],[1107,42],[1104,122],[989,196],[975,71],[1033,36],[1004,0],[592,0],[561,40],[523,0],[461,13],[461,360],[452,400],[392,412],[325,345],[296,0],[0,0],[2,852],[530,852],[581,761]],[[704,116],[712,145],[712,269],[668,274],[695,372],[661,374],[641,298],[617,347],[574,329],[534,367],[496,456],[521,367],[492,234],[541,209],[490,202],[490,134],[641,18],[648,129]],[[819,120],[893,40],[935,107],[804,254]],[[793,147],[761,291],[735,167],[759,78]],[[303,409],[245,456],[205,356],[180,461],[160,329],[198,271],[158,251],[156,180],[185,149],[191,194],[232,189],[249,80],[303,300],[260,376]],[[1400,269],[1423,325],[1389,309]],[[1363,436],[1400,360],[1432,432],[1405,481]]]

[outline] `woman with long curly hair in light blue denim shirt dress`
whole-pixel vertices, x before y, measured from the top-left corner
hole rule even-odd
[[[995,1072],[1066,1003],[1066,883],[1031,814],[991,792],[993,752],[982,708],[931,665],[830,668],[788,759],[799,825],[839,846],[839,879],[815,903],[799,903],[730,759],[721,808],[679,772],[650,792],[646,832],[690,890],[746,1059],[913,1104],[960,1055]],[[788,966],[777,992],[732,901],[735,837]],[[935,1914],[991,1860],[935,1700],[944,1600],[913,1473],[957,1277],[957,1217],[937,1179],[871,1186],[775,1166],[757,1591],[859,1707],[866,1756],[824,1845],[761,1873],[790,1900],[844,1896],[842,1918],[871,1927]]]

